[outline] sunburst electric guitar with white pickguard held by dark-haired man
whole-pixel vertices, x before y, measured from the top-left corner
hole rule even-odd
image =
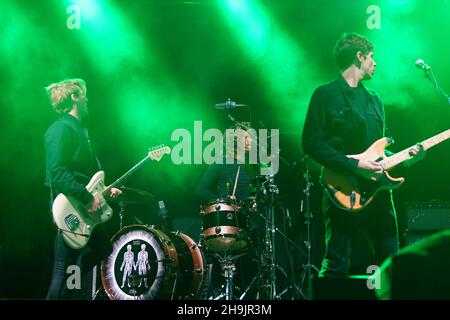
[[[450,129],[420,143],[427,150],[450,138]],[[357,175],[345,175],[326,167],[322,168],[321,182],[330,199],[340,208],[349,212],[358,212],[369,205],[381,190],[400,187],[404,178],[393,178],[388,171],[408,160],[409,148],[387,157],[384,150],[391,139],[381,138],[375,141],[365,152],[348,157],[358,160],[371,160],[381,164],[383,174],[377,180],[369,180]]]

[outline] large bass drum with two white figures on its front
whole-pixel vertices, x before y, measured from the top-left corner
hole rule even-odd
[[[199,294],[204,256],[186,234],[131,225],[112,241],[113,251],[101,266],[111,300],[195,299]]]

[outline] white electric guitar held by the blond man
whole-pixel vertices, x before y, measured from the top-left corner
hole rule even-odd
[[[94,174],[87,184],[86,190],[100,200],[100,208],[95,212],[88,212],[86,206],[73,196],[58,194],[52,205],[53,219],[58,229],[62,231],[66,244],[73,249],[83,248],[88,243],[95,226],[108,221],[112,217],[113,211],[106,202],[104,195],[109,194],[111,188],[123,186],[126,180],[140,169],[147,160],[159,161],[170,151],[170,148],[166,146],[151,149],[147,157],[109,186],[105,186],[104,171]]]

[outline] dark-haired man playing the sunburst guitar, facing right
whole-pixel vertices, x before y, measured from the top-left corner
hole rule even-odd
[[[373,45],[362,35],[344,33],[335,44],[333,56],[340,75],[314,91],[303,128],[303,149],[332,170],[377,179],[383,173],[377,162],[346,156],[366,150],[385,136],[382,102],[362,83],[374,75]],[[412,147],[409,154],[409,165],[424,156],[419,146]],[[357,215],[338,208],[324,194],[323,216],[326,240],[320,276],[348,274],[352,249],[362,239],[368,240],[370,264],[381,265],[399,248],[391,192],[380,192]]]

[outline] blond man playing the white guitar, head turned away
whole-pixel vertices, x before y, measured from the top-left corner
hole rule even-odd
[[[100,201],[94,199],[85,186],[100,164],[92,151],[83,120],[88,116],[86,83],[82,79],[67,79],[45,88],[53,109],[61,116],[45,133],[46,178],[51,202],[59,193],[77,197],[88,212],[99,209]],[[119,189],[111,190],[111,197],[119,195]],[[51,207],[51,204],[50,204]],[[89,271],[97,262],[111,253],[112,246],[104,230],[94,230],[89,244],[80,250],[66,245],[61,231],[54,242],[53,274],[47,299],[68,299],[77,296],[68,290],[66,279],[73,274],[68,267],[78,265],[81,273]],[[81,288],[83,292],[83,288]]]

